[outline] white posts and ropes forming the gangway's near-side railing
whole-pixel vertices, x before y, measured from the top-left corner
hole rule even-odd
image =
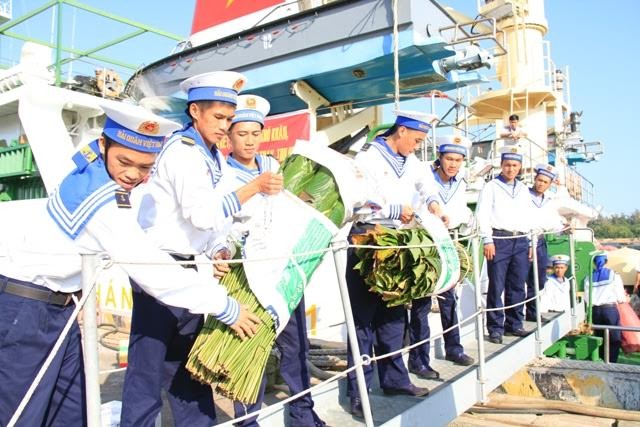
[[[532,231],[529,233],[529,237],[533,240],[534,244],[536,242],[536,239],[539,238],[540,233],[538,231]],[[517,236],[522,237],[522,236]],[[494,239],[505,239],[505,238],[514,238],[514,237],[498,237],[498,236],[494,236]],[[366,385],[365,385],[365,381],[364,381],[364,374],[363,374],[363,366],[370,364],[371,362],[375,361],[375,360],[381,360],[383,358],[387,358],[387,357],[391,357],[395,354],[397,354],[398,352],[400,353],[406,353],[409,349],[422,345],[428,341],[434,340],[436,338],[438,338],[439,336],[444,335],[444,333],[448,332],[449,330],[453,329],[453,328],[457,328],[462,324],[466,324],[472,320],[474,320],[474,324],[475,324],[475,330],[476,330],[476,344],[477,344],[477,352],[478,352],[478,368],[477,368],[477,376],[476,376],[476,385],[477,385],[477,394],[475,395],[476,400],[483,402],[486,401],[487,396],[488,396],[488,392],[490,390],[487,390],[485,388],[485,385],[488,384],[487,382],[487,378],[485,377],[485,366],[486,366],[486,353],[485,353],[485,349],[484,349],[484,315],[487,311],[489,310],[504,310],[507,309],[509,307],[502,307],[502,308],[496,308],[496,309],[487,309],[483,307],[483,303],[482,303],[482,297],[481,297],[481,291],[480,291],[480,248],[481,248],[481,244],[480,244],[480,237],[479,235],[476,234],[472,234],[470,236],[466,236],[463,238],[459,238],[457,239],[458,241],[463,241],[463,240],[471,240],[471,246],[472,246],[472,250],[473,250],[473,254],[472,256],[474,257],[474,263],[473,263],[473,279],[475,282],[475,300],[476,300],[476,312],[473,313],[472,315],[468,316],[465,319],[462,319],[457,325],[454,325],[452,328],[447,329],[445,331],[442,332],[442,334],[438,334],[435,336],[431,336],[430,338],[420,341],[418,343],[413,344],[412,346],[409,347],[405,347],[397,352],[394,353],[390,353],[390,354],[383,354],[383,355],[375,355],[375,357],[365,357],[365,358],[361,358],[359,356],[359,349],[357,347],[357,344],[355,345],[354,348],[352,348],[353,351],[353,356],[354,356],[354,360],[359,360],[359,362],[355,363],[354,366],[350,369],[348,369],[347,371],[341,372],[333,377],[331,377],[330,379],[324,381],[323,383],[316,385],[312,388],[310,388],[309,390],[303,391],[302,393],[298,394],[298,395],[294,395],[291,396],[290,398],[286,399],[285,401],[279,402],[278,404],[275,405],[271,405],[269,407],[267,407],[266,409],[263,409],[261,411],[252,413],[252,414],[247,414],[245,417],[242,418],[238,418],[235,420],[231,420],[228,423],[225,423],[224,425],[233,423],[233,422],[238,422],[242,419],[246,419],[246,418],[251,418],[253,416],[256,415],[260,415],[260,414],[269,414],[269,413],[275,413],[277,411],[280,411],[282,409],[282,405],[284,405],[285,403],[294,400],[298,397],[300,397],[302,394],[304,393],[310,393],[313,391],[317,391],[320,388],[322,388],[323,385],[326,385],[327,383],[330,382],[334,382],[340,378],[343,378],[347,375],[348,372],[351,371],[355,371],[356,372],[356,376],[357,376],[357,382],[358,382],[358,386],[360,388],[360,393],[361,393],[361,399],[362,399],[362,404],[363,404],[363,410],[364,410],[364,415],[365,415],[365,422],[367,426],[372,426],[373,425],[373,418],[372,418],[372,414],[371,414],[371,407],[369,405],[368,402],[368,392],[366,389]],[[344,241],[344,240],[335,240],[330,248],[327,248],[325,250],[322,251],[318,251],[319,253],[323,252],[332,252],[334,259],[336,260],[336,274],[337,274],[337,278],[338,278],[338,283],[340,286],[340,290],[341,290],[341,298],[342,298],[342,304],[343,304],[343,308],[344,308],[344,314],[345,314],[345,320],[347,323],[347,329],[349,332],[350,336],[355,336],[355,327],[354,327],[354,321],[353,321],[353,317],[351,315],[351,311],[350,311],[350,307],[351,307],[351,303],[349,300],[349,295],[348,295],[348,291],[346,288],[346,282],[345,282],[345,278],[341,275],[340,271],[341,268],[340,266],[342,265],[344,259],[343,259],[343,255],[346,252],[346,250],[350,247],[355,247],[356,245],[350,245],[348,244],[348,242]],[[418,246],[433,246],[433,245],[418,245]],[[413,246],[412,246],[413,247]],[[388,246],[380,247],[380,249],[388,249]],[[573,248],[572,248],[573,250]],[[534,251],[535,252],[535,251]],[[572,254],[573,255],[573,254]],[[286,256],[287,258],[291,258],[291,257],[295,257],[295,254],[291,254]],[[85,305],[88,303],[89,299],[93,300],[93,304],[95,305],[95,285],[97,283],[97,277],[98,274],[100,273],[100,271],[102,271],[103,269],[106,269],[108,267],[110,267],[111,265],[114,264],[149,264],[149,263],[144,263],[144,262],[140,262],[137,260],[114,260],[111,259],[110,257],[108,257],[105,254],[98,254],[98,255],[82,255],[83,258],[83,263],[82,263],[82,278],[83,278],[83,297],[80,301],[78,301],[77,306],[76,306],[76,311],[79,311],[83,306],[85,308],[87,308],[87,310],[89,310],[88,312],[92,312],[91,311],[91,306],[90,305]],[[253,262],[253,261],[261,261],[261,260],[250,260],[250,259],[241,259],[241,260],[226,260],[226,261],[211,261],[211,262],[194,262],[194,261],[180,261],[178,262],[181,265],[185,265],[185,264],[207,264],[207,265],[211,265],[211,264],[215,264],[215,263],[219,263],[219,262],[224,262],[224,263],[244,263],[244,262]],[[155,263],[154,263],[155,264]],[[537,258],[534,256],[533,258],[533,268],[534,271],[537,271]],[[535,339],[536,339],[536,343],[537,343],[537,347],[536,347],[536,355],[540,356],[542,355],[542,348],[541,348],[541,343],[543,342],[541,339],[541,335],[540,335],[540,331],[542,328],[542,324],[541,324],[541,313],[539,310],[539,301],[540,301],[540,296],[541,296],[541,292],[539,289],[539,278],[536,276],[534,276],[534,281],[535,281],[535,295],[533,296],[529,296],[529,298],[527,298],[525,301],[516,304],[514,306],[517,305],[522,305],[524,306],[524,304],[526,304],[529,301],[535,300],[536,303],[536,311],[537,311],[537,316],[536,316],[536,327],[535,327]],[[570,281],[570,286],[571,286],[571,295],[572,298],[575,295],[575,289],[574,289],[574,282]],[[94,310],[95,311],[95,310]],[[89,316],[92,317],[92,316]],[[55,353],[57,351],[57,349],[59,348],[59,343],[61,343],[65,337],[66,337],[66,333],[68,333],[69,328],[71,326],[71,322],[73,322],[75,319],[75,316],[71,316],[70,320],[69,320],[69,324],[67,326],[69,327],[65,327],[65,329],[63,330],[61,336],[58,339],[58,342],[56,343],[56,346],[54,346],[52,352],[49,354],[47,361],[45,362],[45,364],[42,366],[40,372],[38,373],[38,376],[36,377],[36,380],[33,382],[33,384],[31,385],[29,392],[27,393],[27,395],[24,397],[23,401],[21,402],[20,407],[18,408],[18,410],[16,411],[16,413],[14,414],[13,418],[11,419],[11,421],[9,422],[9,426],[13,426],[15,424],[15,422],[17,422],[17,420],[19,419],[19,416],[21,414],[21,411],[24,409],[24,407],[26,406],[26,404],[28,403],[28,400],[30,398],[31,393],[33,393],[33,391],[35,390],[35,388],[37,387],[38,381],[42,378],[42,376],[44,375],[44,373],[46,372],[46,369],[48,368],[48,364],[51,362],[51,360],[53,359],[53,357],[55,356]],[[88,319],[85,319],[85,324],[84,327],[85,328],[91,328],[91,329],[95,329],[96,325],[95,322],[92,324],[92,322],[87,321]],[[94,319],[95,320],[95,319]],[[557,331],[556,331],[557,333]],[[98,359],[98,355],[97,355],[97,339],[96,339],[96,331],[88,331],[85,330],[84,334],[83,334],[83,339],[85,340],[84,342],[84,349],[85,349],[85,367],[87,369],[87,382],[88,382],[88,386],[91,386],[91,392],[88,394],[92,394],[92,398],[88,399],[87,401],[87,405],[88,405],[88,425],[91,427],[94,426],[100,426],[100,395],[99,395],[99,382],[97,381],[99,372],[98,372],[98,364],[97,364],[97,359]],[[352,342],[356,342],[356,340],[352,340]],[[88,390],[89,391],[89,390]],[[471,403],[473,404],[473,402]],[[421,404],[422,405],[422,404]],[[451,414],[449,414],[451,415]],[[455,414],[457,415],[457,414]]]

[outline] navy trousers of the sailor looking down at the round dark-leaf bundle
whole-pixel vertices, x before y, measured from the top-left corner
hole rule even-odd
[[[356,337],[361,354],[373,356],[390,353],[402,348],[404,330],[406,325],[406,310],[403,305],[387,307],[382,298],[373,292],[364,283],[360,272],[353,267],[358,263],[358,257],[350,251],[347,257],[347,287],[351,300],[351,310],[356,326]],[[354,337],[348,337],[349,340]],[[347,364],[354,365],[351,347],[347,347]],[[382,388],[407,388],[409,371],[398,354],[391,358],[377,362],[378,379]],[[371,387],[373,379],[373,364],[363,366],[367,389]],[[355,371],[350,372],[347,378],[347,394],[358,397],[358,385]]]

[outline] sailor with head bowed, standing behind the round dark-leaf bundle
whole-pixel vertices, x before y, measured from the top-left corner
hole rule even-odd
[[[414,211],[426,203],[429,210],[443,217],[433,174],[418,160],[414,151],[424,143],[430,123],[435,117],[415,112],[396,112],[395,124],[384,134],[365,144],[355,160],[370,179],[382,208],[366,223],[357,223],[352,234],[362,233],[374,224],[398,228],[412,221]],[[358,257],[353,251],[347,259],[347,285],[356,326],[356,337],[362,354],[390,353],[402,348],[406,310],[403,306],[387,307],[382,298],[369,292],[360,272],[354,270]],[[348,366],[353,357],[348,351]],[[386,394],[424,396],[428,390],[411,383],[409,373],[398,354],[377,362],[380,386]],[[367,387],[373,378],[373,366],[365,366]],[[362,406],[355,373],[348,375],[347,394],[351,397],[351,413],[362,417]]]

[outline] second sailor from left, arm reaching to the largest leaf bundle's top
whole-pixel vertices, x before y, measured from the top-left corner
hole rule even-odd
[[[187,92],[192,122],[164,145],[138,218],[151,239],[177,260],[190,261],[203,253],[221,257],[225,252],[218,252],[213,243],[233,214],[255,194],[274,194],[282,188],[281,176],[265,173],[234,190],[235,174],[216,147],[231,125],[245,81],[239,73],[220,71],[191,77],[180,85]],[[182,286],[174,283],[176,290]],[[163,388],[173,398],[176,425],[215,424],[211,388],[191,379],[184,368],[204,317],[162,304],[136,283],[132,287],[121,425],[152,425],[162,407]],[[171,394],[176,389],[183,394]]]

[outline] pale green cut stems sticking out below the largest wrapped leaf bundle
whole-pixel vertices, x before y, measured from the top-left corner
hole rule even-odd
[[[229,296],[258,316],[256,335],[242,341],[213,316],[207,320],[189,353],[187,369],[205,384],[217,383],[216,391],[230,399],[256,402],[267,359],[276,339],[273,319],[251,292],[244,269],[232,267],[220,281]]]

